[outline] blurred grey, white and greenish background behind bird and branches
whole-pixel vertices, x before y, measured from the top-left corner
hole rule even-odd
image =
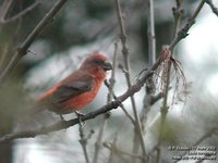
[[[34,0],[12,1],[5,18],[13,17],[35,2]],[[1,21],[0,73],[11,60],[16,48],[56,3],[51,0],[38,2],[40,3],[24,16],[9,23]],[[148,67],[147,7],[144,0],[120,0],[120,2],[128,34],[131,80],[134,83],[137,74]],[[192,15],[198,2],[183,1],[182,24]],[[217,1],[214,3],[218,7]],[[3,4],[4,1],[0,0],[1,14]],[[161,46],[169,45],[173,39],[173,7],[175,7],[175,1],[154,0],[157,57]],[[190,147],[211,128],[217,127],[217,29],[218,17],[205,4],[196,23],[190,29],[190,35],[175,48],[174,58],[182,63],[187,85],[182,87],[175,99],[177,102],[170,105],[165,129],[162,162],[172,161],[173,153],[168,150],[169,146]],[[81,61],[88,54],[100,51],[112,61],[114,42],[118,42],[118,63],[122,64],[122,46],[119,41],[119,34],[114,1],[68,1],[28,48],[28,53],[19,62],[3,87],[0,88],[0,136],[17,130],[16,116],[25,114],[25,110],[29,108],[33,100],[76,70]],[[124,74],[120,68],[116,71],[116,79],[114,92],[120,96],[128,88]],[[173,93],[173,85],[171,87]],[[98,97],[83,112],[87,113],[106,104],[107,93],[107,87],[102,86]],[[145,96],[145,89],[135,95],[138,113],[143,109]],[[170,103],[172,102],[169,101]],[[157,143],[160,105],[161,100],[152,106],[148,114],[144,135],[147,151],[150,151]],[[129,100],[124,102],[124,106],[132,114]],[[72,117],[75,115],[70,114],[64,118]],[[94,156],[94,147],[102,118],[102,116],[98,116],[87,121],[84,125],[85,135],[89,135],[90,130],[94,130],[87,146],[90,160]],[[59,118],[49,114],[40,116],[40,121],[45,121],[46,124],[43,125],[48,125]],[[32,129],[34,127],[36,126],[31,126]],[[133,130],[133,125],[122,110],[113,110],[102,141],[109,143],[118,137],[118,148],[131,153]],[[36,138],[2,143],[0,145],[0,163],[83,163],[85,159],[78,140],[78,127],[73,126],[66,130]],[[198,146],[218,147],[217,133],[213,133]],[[102,147],[99,162],[108,160],[109,152],[109,149]],[[113,162],[131,162],[130,158],[130,155],[119,156],[118,154],[113,158]]]

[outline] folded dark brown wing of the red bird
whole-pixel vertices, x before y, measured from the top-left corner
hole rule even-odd
[[[63,80],[50,97],[55,103],[64,102],[73,97],[89,91],[93,88],[94,78],[87,74],[80,74],[76,78]]]

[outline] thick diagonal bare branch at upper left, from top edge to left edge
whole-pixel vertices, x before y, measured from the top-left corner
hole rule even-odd
[[[34,42],[36,37],[43,32],[43,29],[53,20],[53,16],[63,7],[66,0],[59,0],[51,10],[45,15],[45,17],[38,23],[38,25],[33,29],[28,37],[24,40],[21,47],[17,48],[16,52],[13,54],[7,67],[0,74],[0,84],[9,76],[12,70],[15,67],[17,62],[27,53],[28,47]]]

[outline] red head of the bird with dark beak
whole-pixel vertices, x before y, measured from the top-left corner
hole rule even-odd
[[[112,65],[104,54],[94,53],[85,59],[80,70],[95,77],[105,78],[106,72],[112,70]]]

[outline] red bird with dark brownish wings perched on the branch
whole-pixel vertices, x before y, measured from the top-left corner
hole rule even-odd
[[[109,70],[112,65],[105,55],[89,55],[78,70],[39,98],[37,110],[48,109],[61,115],[85,108],[95,99]]]

